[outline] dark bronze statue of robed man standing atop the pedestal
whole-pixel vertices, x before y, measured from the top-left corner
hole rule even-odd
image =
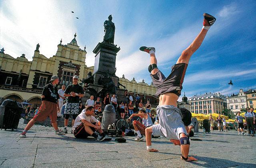
[[[108,16],[108,20],[104,21],[104,32],[103,42],[114,44],[115,37],[115,24],[112,22],[112,16]]]

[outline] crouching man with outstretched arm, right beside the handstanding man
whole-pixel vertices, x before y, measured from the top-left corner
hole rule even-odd
[[[132,125],[138,134],[134,141],[143,141],[142,135],[145,135],[145,129],[153,125],[151,117],[146,113],[144,109],[141,109],[138,114],[132,114],[127,119],[127,121],[130,122],[132,117],[140,117],[142,119],[142,123],[140,123],[140,121],[134,120]]]

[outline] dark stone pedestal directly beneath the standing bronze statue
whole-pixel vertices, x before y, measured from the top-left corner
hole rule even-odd
[[[98,84],[99,78],[103,74],[110,74],[115,86],[118,85],[118,77],[116,73],[116,53],[120,51],[120,47],[116,47],[114,44],[110,43],[98,43],[98,45],[93,50],[95,55],[94,63],[94,84]]]

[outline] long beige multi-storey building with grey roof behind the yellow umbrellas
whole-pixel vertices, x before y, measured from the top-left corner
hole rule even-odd
[[[195,95],[189,98],[191,104],[192,113],[219,113],[222,114],[222,110],[227,108],[226,98],[220,93],[205,93],[202,95]]]

